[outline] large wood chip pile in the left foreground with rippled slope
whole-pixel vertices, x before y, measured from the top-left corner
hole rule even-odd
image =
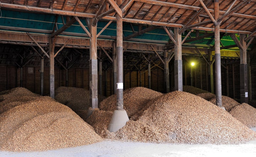
[[[15,92],[32,92],[17,88],[6,95],[10,100]],[[4,101],[2,101],[4,102]],[[42,151],[75,147],[99,142],[102,138],[69,107],[48,96],[38,96],[0,114],[1,151]]]

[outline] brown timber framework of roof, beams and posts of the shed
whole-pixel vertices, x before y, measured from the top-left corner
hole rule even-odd
[[[215,61],[216,103],[220,107],[222,106],[221,58],[240,58],[241,102],[248,102],[246,54],[256,36],[256,0],[0,0],[0,7],[1,12],[18,11],[55,16],[51,22],[52,30],[0,24],[0,44],[30,46],[33,51],[37,51],[42,58],[42,74],[43,58],[49,58],[50,96],[53,98],[54,58],[64,48],[73,48],[80,54],[79,49],[90,51],[92,108],[97,108],[98,105],[97,59],[101,60],[104,54],[113,65],[117,109],[123,109],[123,66],[129,66],[123,64],[124,51],[136,52],[139,55],[135,57],[144,58],[148,62],[148,71],[151,69],[151,63],[156,66],[159,62],[162,63],[165,71],[166,92],[170,91],[169,62],[173,57],[175,90],[180,91],[182,91],[183,54],[199,54],[211,65],[209,67],[212,92],[212,63]],[[1,18],[6,17],[1,13]],[[58,28],[60,26],[58,18],[62,18],[63,21],[60,28]],[[99,22],[105,23],[101,30],[97,30]],[[84,33],[65,31],[73,27],[74,23],[78,23]],[[114,29],[116,33],[102,34],[113,23],[116,23]],[[129,34],[124,33],[125,24],[130,24],[132,28]],[[134,31],[134,26],[138,26],[137,32]],[[164,31],[168,40],[137,38],[156,29]],[[199,32],[204,33],[199,35]],[[185,36],[182,37],[182,34]],[[196,34],[196,38],[190,38],[191,34]],[[191,44],[193,41],[212,36],[214,36],[214,44],[211,46]],[[223,45],[221,40],[225,36],[232,38],[235,44]],[[55,47],[60,49],[56,52]],[[223,51],[224,49],[231,51]],[[112,57],[109,55],[110,52]],[[98,53],[100,56],[97,55]],[[145,56],[145,54],[149,55]],[[156,55],[157,62],[150,54]],[[67,65],[64,66],[64,63],[57,58],[56,60],[68,69]],[[138,68],[139,61],[129,63]],[[101,69],[102,63],[99,66]]]

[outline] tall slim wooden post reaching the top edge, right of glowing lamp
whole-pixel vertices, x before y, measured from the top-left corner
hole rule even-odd
[[[219,18],[219,0],[214,0],[214,19]],[[221,86],[221,63],[220,63],[220,23],[214,23],[215,41],[215,86],[216,86],[216,105],[222,107],[222,86]]]

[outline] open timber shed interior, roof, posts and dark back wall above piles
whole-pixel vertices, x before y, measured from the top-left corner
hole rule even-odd
[[[256,0],[0,0],[0,90],[54,98],[59,86],[117,93],[193,85],[256,95]],[[190,63],[196,65],[192,67]],[[238,73],[239,71],[239,73]]]

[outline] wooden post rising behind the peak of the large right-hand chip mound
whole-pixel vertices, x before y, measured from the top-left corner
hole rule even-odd
[[[181,51],[181,34],[179,34],[179,28],[174,28],[174,40],[176,45],[174,46],[175,60],[174,60],[174,89],[183,91],[182,86],[182,51]]]

